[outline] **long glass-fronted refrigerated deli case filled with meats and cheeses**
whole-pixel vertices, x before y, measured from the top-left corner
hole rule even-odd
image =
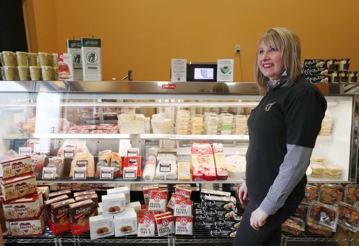
[[[328,107],[306,173],[308,183],[355,184],[358,94],[348,94],[352,85],[316,86]],[[127,185],[131,192],[155,184],[188,184],[194,191],[233,193],[245,175],[246,121],[261,98],[255,83],[4,81],[0,159],[28,154],[38,184]],[[212,153],[223,153],[222,161],[195,156],[208,146]],[[117,161],[111,164],[112,159]],[[16,172],[26,174],[24,170]],[[96,242],[233,240],[213,237],[208,229],[194,228],[194,233],[197,238],[132,235]],[[62,235],[55,244],[92,242],[86,233],[82,238]],[[288,238],[284,235],[283,242]]]

